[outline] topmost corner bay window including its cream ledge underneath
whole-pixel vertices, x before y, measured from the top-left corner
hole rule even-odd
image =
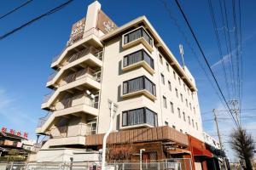
[[[125,33],[122,39],[123,48],[131,48],[139,43],[143,43],[145,48],[147,48],[150,53],[153,52],[153,38],[150,37],[143,26],[137,28],[136,30]]]

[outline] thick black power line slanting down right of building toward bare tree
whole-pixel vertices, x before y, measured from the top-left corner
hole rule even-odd
[[[189,26],[189,31],[191,31],[191,33],[192,33],[192,35],[193,35],[193,37],[194,37],[194,39],[195,39],[195,42],[196,42],[198,48],[200,49],[203,58],[205,59],[205,61],[206,61],[206,63],[207,63],[207,67],[209,68],[209,70],[210,70],[210,72],[211,72],[211,74],[212,74],[212,77],[213,77],[213,79],[214,79],[214,82],[216,82],[216,85],[217,85],[217,87],[218,87],[218,90],[219,90],[221,96],[222,96],[223,99],[224,99],[225,104],[227,105],[227,107],[228,107],[228,109],[229,109],[229,111],[230,111],[230,115],[232,116],[234,122],[236,123],[236,126],[238,127],[238,124],[237,124],[237,122],[236,122],[236,119],[235,119],[235,117],[233,116],[233,114],[232,114],[232,112],[231,112],[231,110],[230,110],[230,106],[228,105],[228,102],[227,102],[227,100],[225,99],[224,94],[223,94],[221,88],[220,88],[219,85],[218,85],[218,81],[217,81],[217,79],[216,79],[216,77],[215,77],[215,75],[214,75],[214,73],[213,73],[213,71],[212,71],[211,66],[209,65],[209,62],[208,62],[208,60],[207,60],[207,58],[206,58],[206,55],[204,54],[204,52],[203,52],[203,50],[202,50],[202,48],[201,48],[200,43],[198,42],[197,38],[195,37],[195,33],[194,33],[194,31],[192,30],[191,26],[189,25],[189,21],[188,21],[187,17],[186,17],[185,14],[183,13],[183,9],[181,8],[181,6],[180,6],[180,4],[177,2],[177,0],[175,0],[175,2],[177,3],[177,6],[178,6],[180,12],[183,14],[183,19],[186,21],[187,25]]]

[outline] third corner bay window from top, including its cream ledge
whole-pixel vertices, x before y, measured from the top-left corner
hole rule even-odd
[[[155,85],[147,77],[137,77],[123,82],[123,98],[132,98],[144,95],[155,100]]]

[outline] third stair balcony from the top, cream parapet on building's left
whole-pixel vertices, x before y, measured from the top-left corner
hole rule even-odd
[[[49,110],[49,106],[55,101],[57,96],[64,91],[73,94],[74,91],[84,91],[84,89],[99,90],[101,88],[101,71],[93,71],[90,68],[75,72],[64,77],[59,83],[56,91],[44,96],[42,109]]]

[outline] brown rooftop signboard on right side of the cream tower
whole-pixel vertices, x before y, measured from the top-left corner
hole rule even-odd
[[[98,13],[97,28],[107,34],[108,32],[115,30],[117,26],[114,24],[113,20],[110,20],[107,14],[100,10]]]

